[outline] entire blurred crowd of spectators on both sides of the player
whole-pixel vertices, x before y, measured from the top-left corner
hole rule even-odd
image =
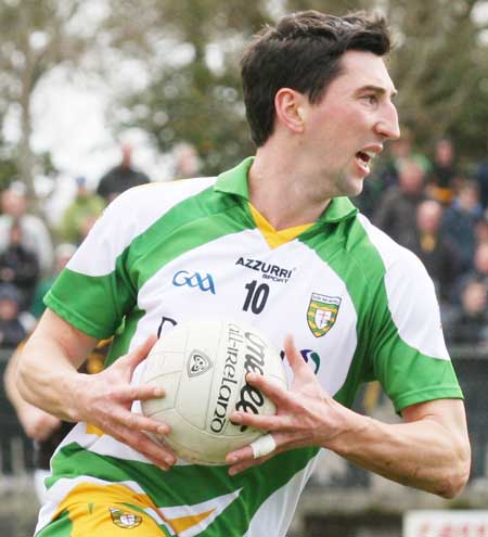
[[[448,344],[488,344],[488,157],[467,171],[449,139],[437,140],[432,154],[413,148],[412,136],[403,132],[355,203],[424,263]],[[0,193],[0,347],[15,347],[30,332],[43,311],[42,297],[106,204],[150,182],[133,167],[132,148],[120,150],[120,163],[100,178],[97,190],[76,178],[76,195],[55,226],[34,210],[22,182]],[[188,144],[176,148],[175,163],[177,178],[198,171]]]

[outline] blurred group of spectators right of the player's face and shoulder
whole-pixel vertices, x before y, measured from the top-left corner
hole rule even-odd
[[[488,157],[465,168],[447,138],[429,155],[412,142],[407,132],[390,144],[357,204],[422,259],[436,287],[447,343],[487,344]]]

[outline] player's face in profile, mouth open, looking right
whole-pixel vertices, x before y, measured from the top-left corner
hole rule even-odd
[[[373,158],[400,135],[396,93],[382,57],[348,51],[343,72],[317,104],[305,104],[303,151],[328,196],[358,195]]]

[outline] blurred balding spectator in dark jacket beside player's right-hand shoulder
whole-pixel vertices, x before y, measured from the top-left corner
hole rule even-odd
[[[442,206],[435,200],[422,202],[416,209],[416,233],[412,244],[406,244],[425,265],[436,286],[440,306],[450,302],[452,286],[460,276],[455,247],[440,234]]]

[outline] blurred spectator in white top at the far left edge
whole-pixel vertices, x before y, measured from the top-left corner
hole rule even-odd
[[[25,187],[12,183],[1,193],[0,251],[5,250],[10,241],[10,228],[16,220],[22,228],[22,244],[37,255],[41,273],[48,274],[52,268],[53,245],[51,235],[41,218],[27,213]]]

